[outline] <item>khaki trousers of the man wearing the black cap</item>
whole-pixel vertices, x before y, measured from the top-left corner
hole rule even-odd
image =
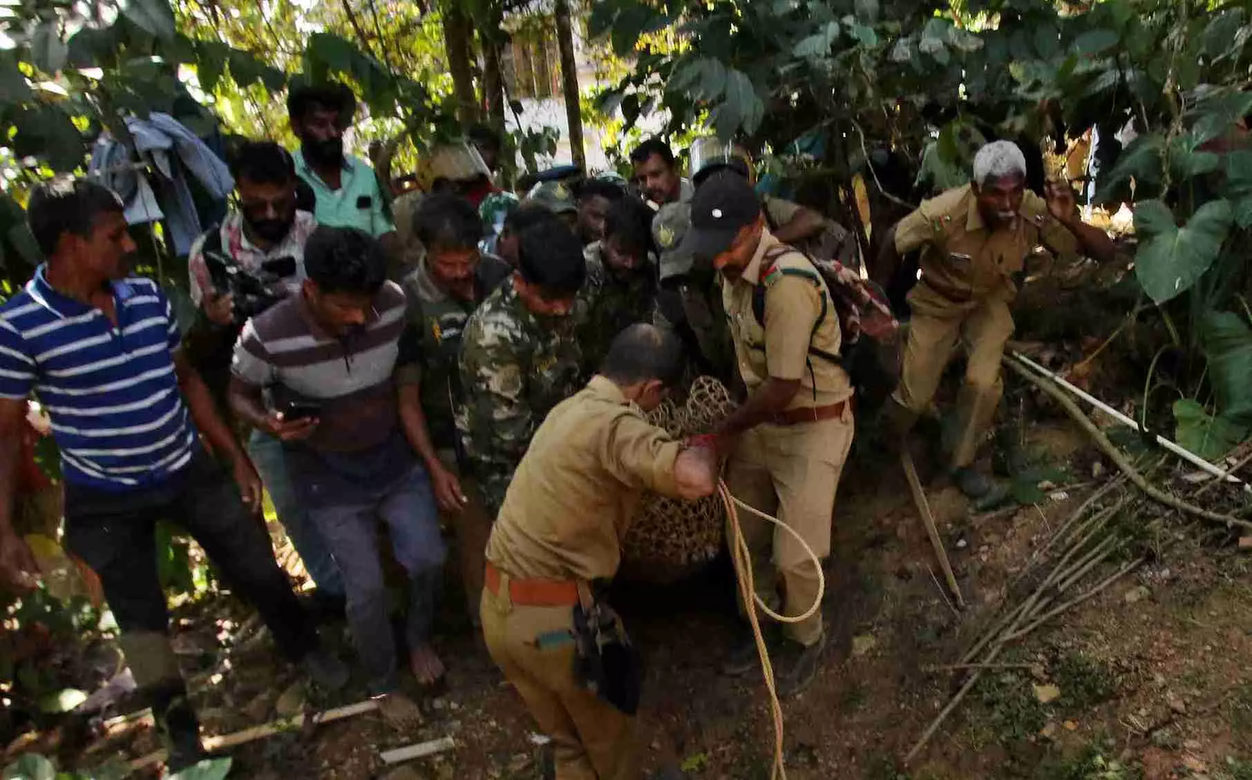
[[[841,419],[757,425],[744,434],[735,449],[726,485],[740,501],[776,516],[798,531],[819,558],[826,558],[835,491],[854,432],[850,405]],[[752,556],[756,595],[765,604],[776,604],[781,579],[785,591],[781,614],[806,611],[818,596],[819,575],[800,542],[744,510],[739,511],[739,525]],[[727,538],[734,539],[730,530]],[[821,639],[821,610],[801,622],[785,624],[784,630],[801,645],[815,644]]]

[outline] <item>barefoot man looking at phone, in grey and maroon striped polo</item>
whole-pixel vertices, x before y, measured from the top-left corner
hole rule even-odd
[[[339,565],[371,692],[407,728],[419,714],[399,692],[378,520],[408,575],[409,668],[432,685],[443,676],[431,645],[444,558],[436,500],[458,506],[461,486],[431,442],[418,342],[402,340],[404,292],[387,281],[382,248],[361,230],[322,226],[305,250],[300,292],[244,326],[230,406],[283,441],[297,499]]]

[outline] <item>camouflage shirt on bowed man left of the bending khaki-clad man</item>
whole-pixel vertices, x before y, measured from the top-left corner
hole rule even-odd
[[[577,392],[580,352],[572,318],[540,318],[505,281],[466,322],[457,431],[492,516],[531,442],[558,402]]]

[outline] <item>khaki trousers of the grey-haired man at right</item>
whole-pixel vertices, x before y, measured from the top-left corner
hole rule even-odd
[[[909,296],[913,319],[895,400],[913,414],[924,412],[958,342],[965,342],[969,359],[957,399],[958,432],[952,454],[952,468],[960,469],[974,462],[1004,392],[1000,358],[1004,342],[1013,335],[1013,315],[1008,302],[998,298],[947,306],[931,305],[930,298]]]

